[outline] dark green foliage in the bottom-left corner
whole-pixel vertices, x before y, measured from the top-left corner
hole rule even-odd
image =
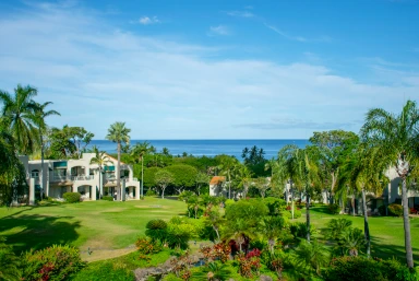
[[[21,280],[19,259],[0,236],[0,280]]]

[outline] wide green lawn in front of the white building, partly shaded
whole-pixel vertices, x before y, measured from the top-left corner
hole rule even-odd
[[[184,202],[149,197],[127,202],[0,208],[0,236],[5,236],[16,253],[69,244],[92,261],[134,250],[136,237],[144,234],[151,219],[169,220],[185,210]]]

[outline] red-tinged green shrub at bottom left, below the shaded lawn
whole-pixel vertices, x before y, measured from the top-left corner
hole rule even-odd
[[[65,280],[79,272],[85,262],[79,249],[68,245],[53,245],[37,251],[27,251],[22,257],[22,276],[27,281]]]

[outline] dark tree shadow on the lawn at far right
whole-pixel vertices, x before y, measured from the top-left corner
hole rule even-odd
[[[371,237],[371,250],[372,256],[388,259],[388,258],[397,258],[402,264],[406,264],[406,250],[405,246],[398,245],[385,245],[383,244],[384,239],[378,237]],[[387,241],[385,243],[388,243]],[[419,266],[419,253],[418,248],[412,248],[414,250],[414,260],[415,266]]]

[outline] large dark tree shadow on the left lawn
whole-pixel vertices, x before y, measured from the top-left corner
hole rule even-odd
[[[13,250],[41,249],[53,244],[71,244],[76,241],[80,222],[68,222],[73,216],[47,216],[38,214],[9,215],[0,219],[0,232]]]

